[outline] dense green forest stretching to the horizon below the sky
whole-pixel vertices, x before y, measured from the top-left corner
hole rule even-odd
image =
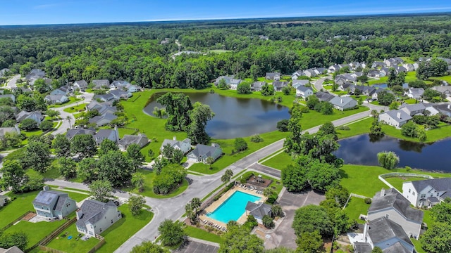
[[[447,14],[0,27],[0,69],[42,68],[61,84],[125,79],[199,89],[225,74],[255,78],[394,56],[451,58],[449,27]],[[198,53],[174,56],[179,51]]]

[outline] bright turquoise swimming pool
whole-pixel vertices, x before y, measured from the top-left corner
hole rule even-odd
[[[237,221],[246,211],[247,202],[256,202],[261,197],[252,194],[243,193],[240,190],[235,191],[233,195],[228,197],[214,212],[206,214],[211,219],[228,223],[229,221]]]

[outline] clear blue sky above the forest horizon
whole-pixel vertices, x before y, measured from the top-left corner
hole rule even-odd
[[[0,0],[0,25],[451,11],[450,0]]]

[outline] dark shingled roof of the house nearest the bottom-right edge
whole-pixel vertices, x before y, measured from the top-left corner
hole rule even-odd
[[[413,246],[412,241],[404,232],[402,226],[395,221],[390,221],[390,219],[385,218],[385,216],[370,221],[368,233],[374,245],[396,237]]]

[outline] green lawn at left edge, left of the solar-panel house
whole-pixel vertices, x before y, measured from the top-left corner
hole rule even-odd
[[[35,199],[39,191],[33,191],[30,193],[13,194],[8,193],[9,197],[16,197],[16,200],[9,202],[6,206],[0,209],[0,228],[4,228],[8,223],[11,223],[20,215],[25,214],[28,211],[34,211],[32,201]]]

